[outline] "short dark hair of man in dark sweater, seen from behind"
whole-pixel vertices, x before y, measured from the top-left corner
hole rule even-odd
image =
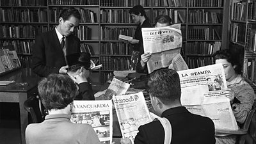
[[[152,97],[157,97],[163,104],[180,101],[180,77],[172,69],[161,68],[150,74],[148,79],[148,92]]]

